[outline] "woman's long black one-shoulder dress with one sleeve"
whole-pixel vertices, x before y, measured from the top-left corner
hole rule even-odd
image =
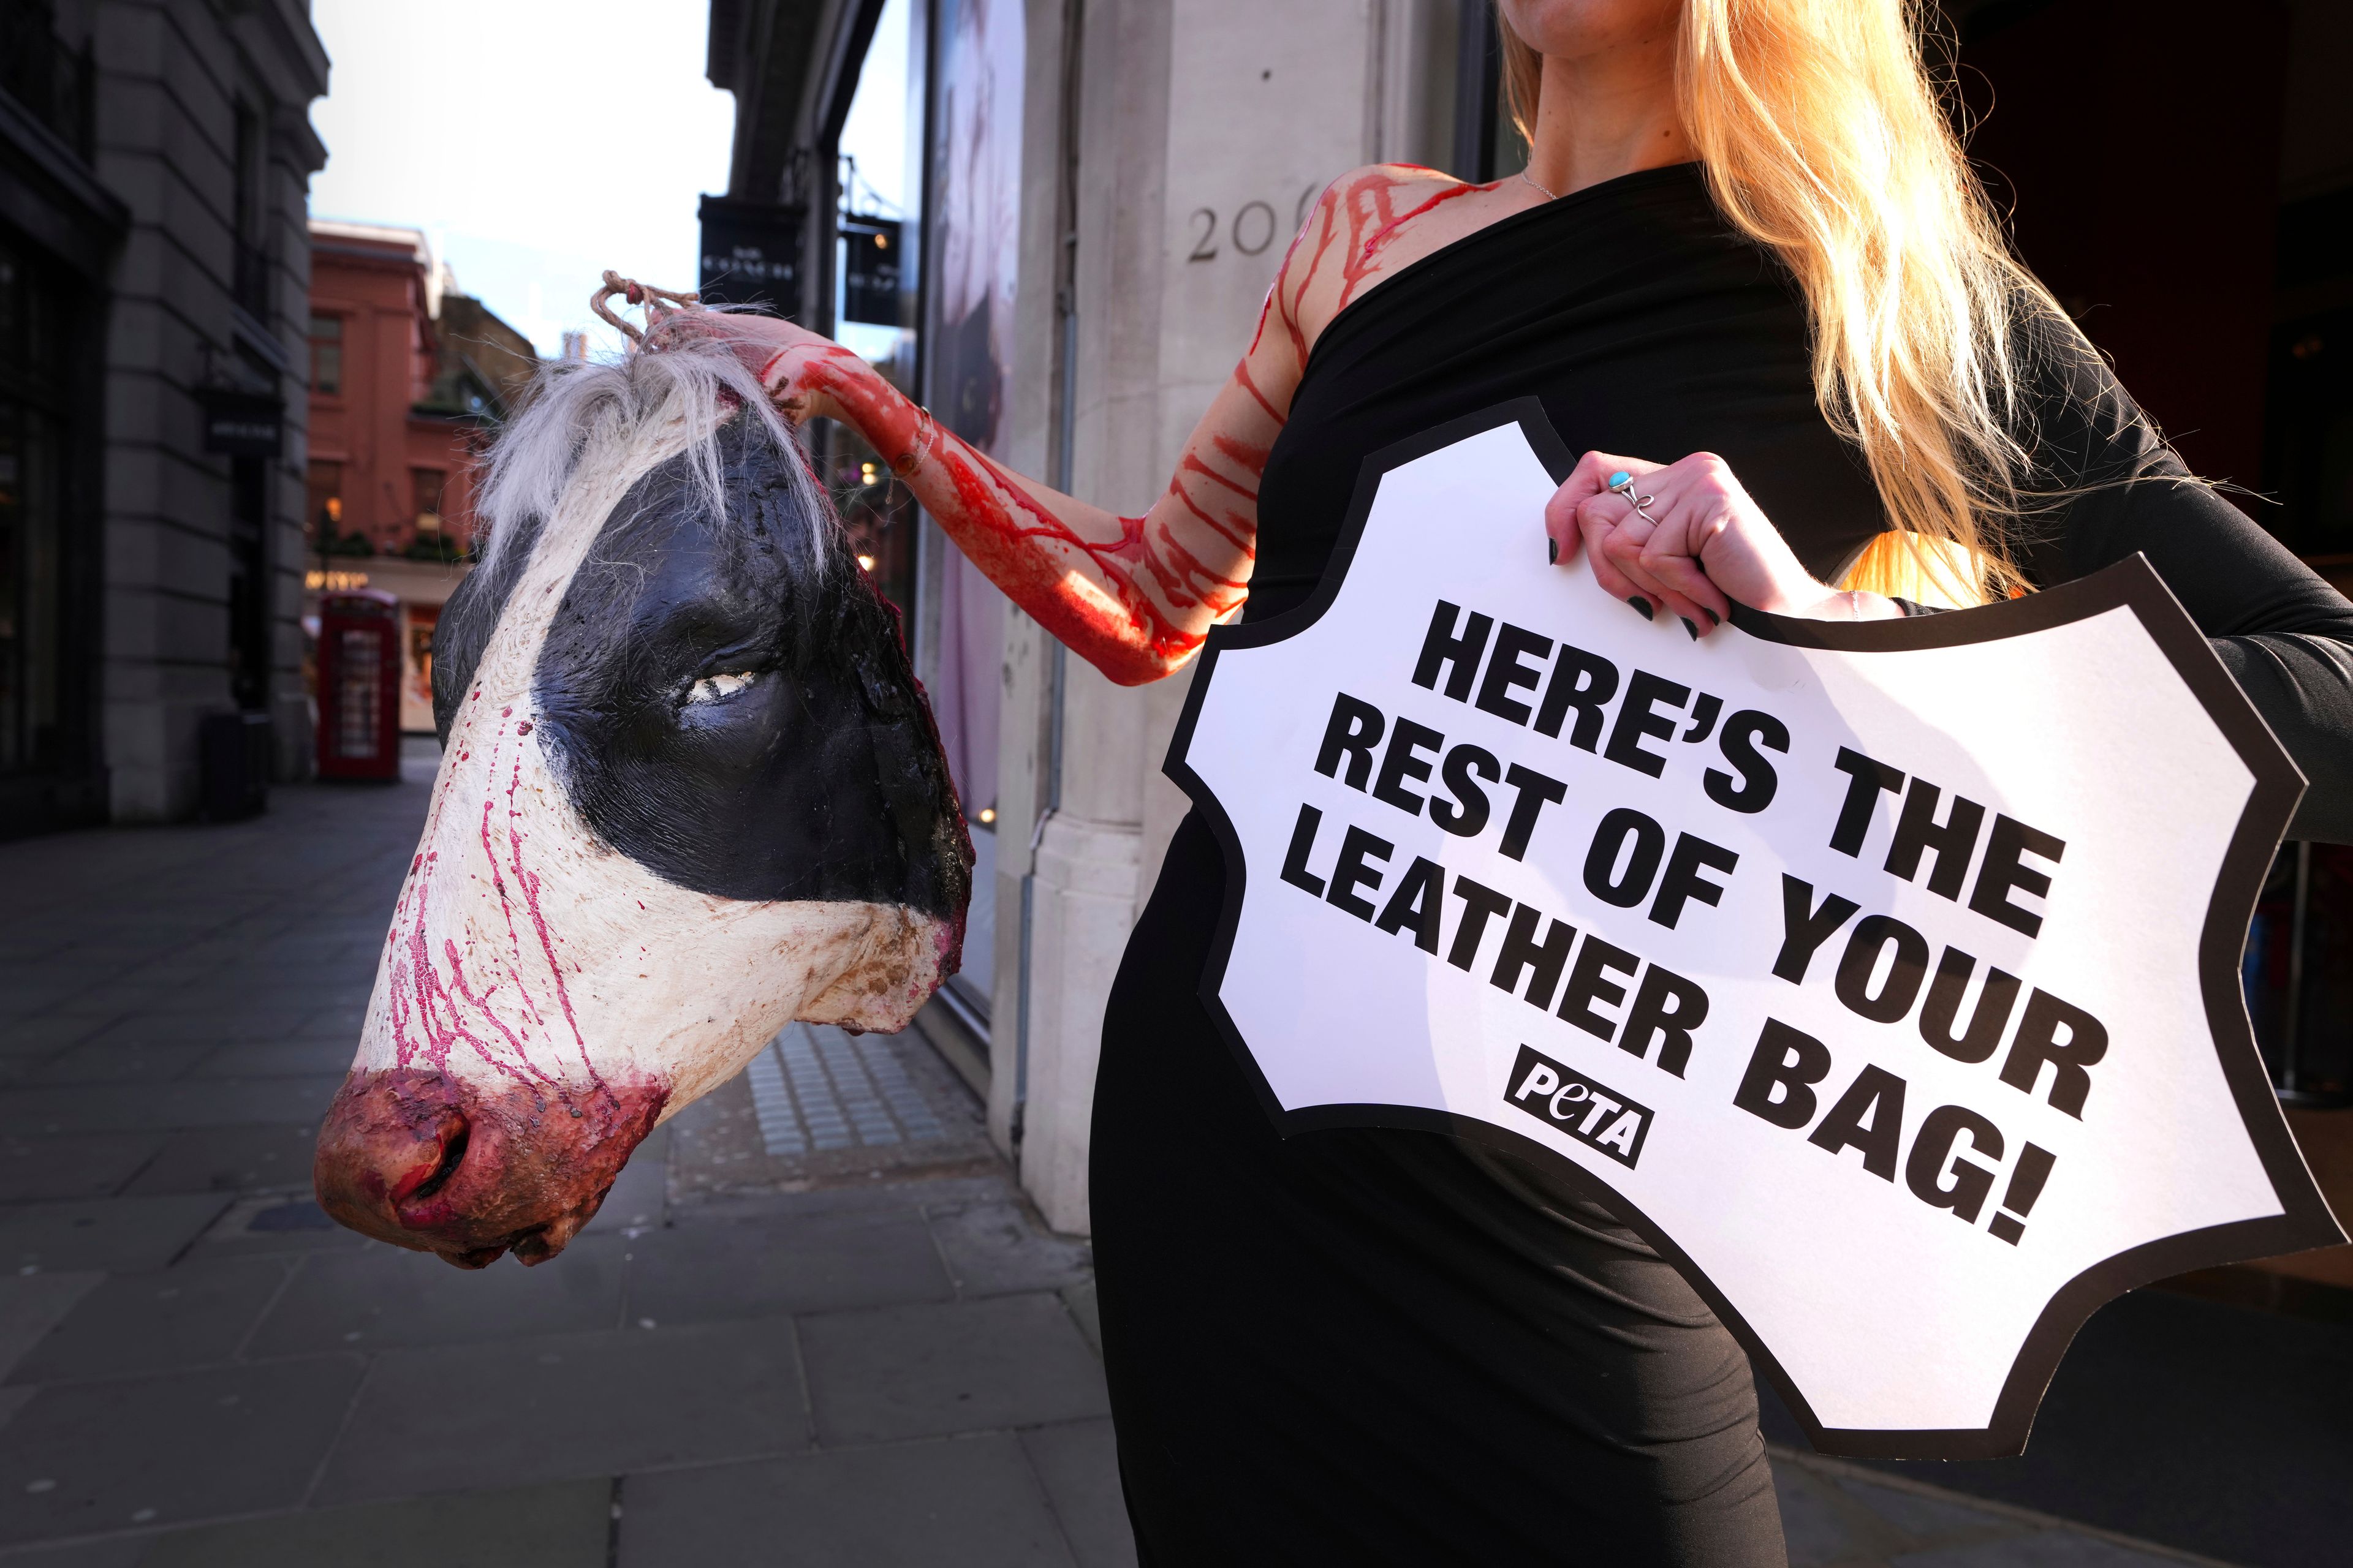
[[[2146,550],[2311,778],[2297,832],[2353,839],[2353,607],[2172,484],[2106,367],[2045,336],[2045,480],[2122,484],[2052,515],[2031,574]],[[1817,576],[1887,527],[1814,404],[1800,296],[1697,167],[1652,169],[1485,228],[1332,322],[1266,465],[1247,618],[1315,590],[1367,454],[1529,393],[1572,449],[1722,454]],[[1144,1561],[1781,1563],[1748,1361],[1631,1229],[1452,1138],[1275,1135],[1200,1001],[1224,884],[1186,820],[1096,1079],[1104,1356]]]

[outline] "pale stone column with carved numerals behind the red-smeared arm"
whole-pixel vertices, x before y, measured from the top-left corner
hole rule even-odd
[[[1369,162],[1417,99],[1412,38],[1438,0],[1089,0],[1078,71],[1073,489],[1136,512],[1167,489],[1193,423],[1249,343],[1259,303],[1315,195]],[[1059,12],[1052,0],[1033,5]],[[1400,33],[1388,14],[1409,12]],[[1388,28],[1388,33],[1384,33]],[[1033,21],[1033,35],[1042,31]],[[1391,35],[1395,33],[1395,35]],[[1384,38],[1388,42],[1384,45]],[[1035,75],[1054,96],[1059,80]],[[1445,66],[1449,68],[1449,63]],[[1386,108],[1384,108],[1386,106]],[[1400,148],[1405,150],[1405,148]],[[1414,148],[1419,150],[1419,148]],[[1395,155],[1395,153],[1391,153]],[[1035,167],[1035,165],[1033,165]],[[1049,200],[1052,188],[1040,186]],[[1024,277],[1028,287],[1028,275]],[[1038,733],[1049,682],[1033,628],[1007,639],[1005,733]],[[1061,806],[1033,860],[1007,832],[1007,914],[1033,872],[1021,1182],[1056,1229],[1087,1229],[1087,1145],[1104,1001],[1186,799],[1160,764],[1188,677],[1122,691],[1064,663]],[[1012,766],[1012,764],[1009,764]],[[1007,773],[1007,785],[1012,773]],[[1047,790],[1038,788],[1035,799]],[[1016,790],[1007,788],[1002,802]],[[1026,804],[1026,802],[1024,802]],[[1014,1030],[1000,987],[993,1126],[1007,1133]]]

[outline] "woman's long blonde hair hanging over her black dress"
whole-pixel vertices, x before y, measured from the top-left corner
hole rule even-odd
[[[1675,103],[1715,205],[1805,292],[1814,395],[1894,524],[1849,583],[1974,604],[2026,588],[2019,327],[2066,317],[1962,158],[1922,59],[1929,9],[1682,0]],[[1544,56],[1501,33],[1506,103],[1532,136]]]

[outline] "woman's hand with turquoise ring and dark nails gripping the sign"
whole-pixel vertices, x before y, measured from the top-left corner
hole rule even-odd
[[[1642,508],[1609,489],[1617,475],[1633,480]],[[1605,590],[1645,616],[1659,609],[1680,616],[1692,637],[1722,625],[1734,602],[1807,621],[1904,614],[1894,599],[1814,581],[1713,451],[1666,465],[1588,451],[1553,491],[1544,529],[1555,562],[1567,564],[1584,545]]]

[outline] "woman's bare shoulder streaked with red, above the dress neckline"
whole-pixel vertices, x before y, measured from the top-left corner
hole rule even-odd
[[[1520,207],[1508,186],[1473,186],[1419,165],[1348,169],[1318,197],[1275,280],[1301,350],[1381,277]]]

